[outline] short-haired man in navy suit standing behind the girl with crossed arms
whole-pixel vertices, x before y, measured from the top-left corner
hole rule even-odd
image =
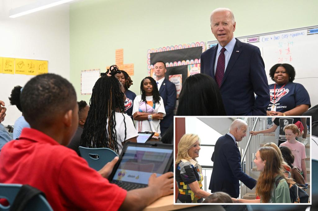
[[[166,111],[166,116],[160,121],[162,136],[173,123],[173,110],[176,107],[177,91],[176,85],[164,77],[164,74],[167,72],[166,64],[163,61],[157,61],[154,68],[159,94],[163,100],[164,110]]]

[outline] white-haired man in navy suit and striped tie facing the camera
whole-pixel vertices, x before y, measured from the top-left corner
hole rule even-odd
[[[265,116],[270,96],[259,48],[233,37],[231,10],[214,10],[210,22],[218,45],[201,54],[201,73],[216,80],[227,115]]]

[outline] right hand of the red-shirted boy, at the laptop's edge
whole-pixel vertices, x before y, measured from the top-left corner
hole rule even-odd
[[[157,189],[159,197],[173,194],[173,172],[170,171],[158,177],[152,174],[149,177],[148,186]]]

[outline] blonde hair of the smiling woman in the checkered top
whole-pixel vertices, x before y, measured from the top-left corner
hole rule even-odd
[[[197,134],[184,134],[178,144],[178,154],[176,157],[176,163],[179,163],[181,159],[190,160],[192,157],[188,154],[188,150],[193,146],[196,141],[201,142]]]

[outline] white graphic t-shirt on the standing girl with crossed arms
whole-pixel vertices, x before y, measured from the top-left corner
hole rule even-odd
[[[164,110],[163,100],[160,97],[160,104],[153,105],[153,98],[152,96],[146,96],[146,102],[141,102],[141,95],[136,96],[133,104],[133,114],[135,112],[145,112],[145,113],[163,113],[163,116],[166,115],[166,112]],[[143,120],[143,121],[136,121],[136,130],[138,132],[156,132],[161,133],[160,131],[160,120]]]

